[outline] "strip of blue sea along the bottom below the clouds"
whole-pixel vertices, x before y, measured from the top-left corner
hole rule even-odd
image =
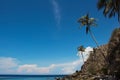
[[[65,75],[0,75],[0,80],[55,80]]]

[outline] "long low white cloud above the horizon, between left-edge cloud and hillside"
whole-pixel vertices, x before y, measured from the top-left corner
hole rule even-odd
[[[59,69],[57,73],[61,74],[70,74],[75,72],[76,67],[80,66],[81,60],[76,60],[69,63],[62,64],[51,64],[48,67],[40,67],[36,64],[24,64],[18,67],[18,72],[26,72],[26,73],[39,73],[39,74],[51,74],[54,70]]]

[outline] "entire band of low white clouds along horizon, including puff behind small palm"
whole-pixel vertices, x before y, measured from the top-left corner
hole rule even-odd
[[[84,58],[87,60],[90,51],[93,51],[91,47],[87,47],[84,52]],[[80,53],[80,52],[79,52]],[[78,56],[81,56],[78,53]],[[51,64],[47,67],[42,67],[37,64],[18,64],[18,60],[11,57],[0,57],[0,73],[16,73],[16,74],[71,74],[78,68],[80,69],[83,64],[82,58],[78,58],[72,62],[64,62],[58,64]]]

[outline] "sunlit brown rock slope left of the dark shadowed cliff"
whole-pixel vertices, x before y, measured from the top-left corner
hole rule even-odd
[[[108,45],[102,45],[98,49],[94,48],[94,52],[91,52],[88,60],[81,67],[82,73],[91,75],[103,74],[103,71],[101,69],[103,69],[106,65],[106,60],[102,54],[107,57],[107,49]]]

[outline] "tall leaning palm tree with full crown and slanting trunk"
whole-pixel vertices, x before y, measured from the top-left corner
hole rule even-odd
[[[88,32],[90,33],[92,39],[94,40],[94,42],[96,43],[97,47],[99,47],[97,40],[95,39],[90,27],[91,26],[96,26],[96,19],[95,18],[90,18],[89,14],[82,16],[79,20],[78,23],[81,24],[81,27],[85,26],[86,27],[86,34],[88,34]],[[105,55],[101,52],[102,56],[104,57],[105,61],[107,61]]]

